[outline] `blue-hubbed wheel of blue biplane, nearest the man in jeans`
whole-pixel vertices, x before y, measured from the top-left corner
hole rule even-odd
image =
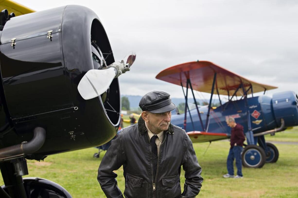
[[[242,152],[242,165],[249,168],[262,168],[266,162],[263,148],[257,145],[247,145]]]

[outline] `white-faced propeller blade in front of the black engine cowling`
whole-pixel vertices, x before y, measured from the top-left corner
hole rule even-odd
[[[81,79],[77,89],[80,95],[89,100],[103,94],[116,76],[114,68],[105,70],[89,70]]]

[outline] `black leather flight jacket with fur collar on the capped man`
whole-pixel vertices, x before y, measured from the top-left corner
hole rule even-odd
[[[193,144],[184,130],[172,124],[164,131],[155,180],[150,140],[142,117],[137,124],[124,128],[117,135],[98,169],[97,180],[107,197],[123,197],[117,186],[117,174],[113,172],[122,165],[126,198],[190,198],[201,190],[202,170]],[[183,193],[181,165],[185,171]]]

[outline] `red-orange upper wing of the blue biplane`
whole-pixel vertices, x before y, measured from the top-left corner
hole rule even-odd
[[[254,93],[262,92],[265,89],[277,88],[250,81],[208,61],[187,62],[175,65],[161,71],[157,74],[156,78],[180,86],[182,82],[183,87],[186,87],[186,80],[189,78],[194,90],[211,93],[214,73],[217,73],[215,91],[216,88],[218,88],[218,92],[221,95],[228,95],[228,91],[229,95],[232,95],[233,90],[237,89],[241,82],[246,90],[252,85]],[[251,91],[249,93],[251,93]],[[242,90],[239,90],[237,95],[243,95]]]

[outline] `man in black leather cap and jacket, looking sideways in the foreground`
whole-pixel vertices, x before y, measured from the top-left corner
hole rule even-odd
[[[123,165],[124,196],[195,197],[202,186],[201,167],[187,133],[170,124],[175,105],[162,91],[149,92],[139,103],[137,124],[124,128],[103,157],[98,182],[107,197],[123,197],[114,170]],[[181,194],[180,171],[185,170]]]

